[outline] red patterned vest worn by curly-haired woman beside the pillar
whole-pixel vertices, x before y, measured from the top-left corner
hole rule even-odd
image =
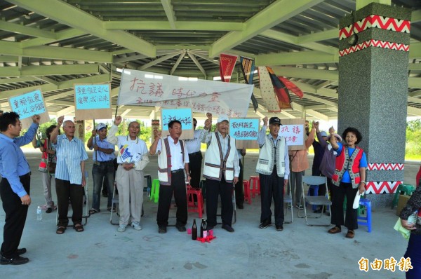
[[[348,147],[344,145],[342,147],[342,153],[340,156],[336,157],[335,173],[332,175],[332,183],[336,186],[339,186],[340,179],[342,179],[342,176],[347,170],[349,177],[351,177],[352,188],[357,188],[359,182],[361,181],[359,174],[359,162],[361,161],[362,156],[363,149],[355,147],[352,156],[349,157]]]

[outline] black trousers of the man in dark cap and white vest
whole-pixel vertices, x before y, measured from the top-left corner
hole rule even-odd
[[[283,225],[283,177],[279,177],[276,173],[276,166],[272,175],[259,175],[260,177],[260,198],[262,213],[260,214],[260,222],[269,220],[272,222],[272,198],[274,199],[275,224]]]

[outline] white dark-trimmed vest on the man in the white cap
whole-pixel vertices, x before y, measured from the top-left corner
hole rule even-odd
[[[203,166],[203,177],[220,181],[222,172],[226,182],[234,179],[234,156],[236,152],[235,139],[228,137],[228,150],[225,157],[222,154],[221,142],[217,132],[212,133],[212,140],[205,153],[205,165]],[[219,155],[219,156],[218,156]]]

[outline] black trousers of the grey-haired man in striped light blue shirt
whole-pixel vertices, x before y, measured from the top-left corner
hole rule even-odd
[[[57,193],[58,224],[67,226],[69,218],[69,198],[72,204],[73,224],[82,224],[83,194],[85,193],[81,184],[71,184],[69,180],[55,179],[55,192]]]

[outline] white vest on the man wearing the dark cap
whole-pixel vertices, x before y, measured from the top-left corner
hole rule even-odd
[[[262,175],[272,175],[276,161],[276,174],[283,177],[285,175],[285,137],[281,137],[276,142],[276,146],[271,137],[270,134],[265,137],[265,144],[259,150],[256,172]]]

